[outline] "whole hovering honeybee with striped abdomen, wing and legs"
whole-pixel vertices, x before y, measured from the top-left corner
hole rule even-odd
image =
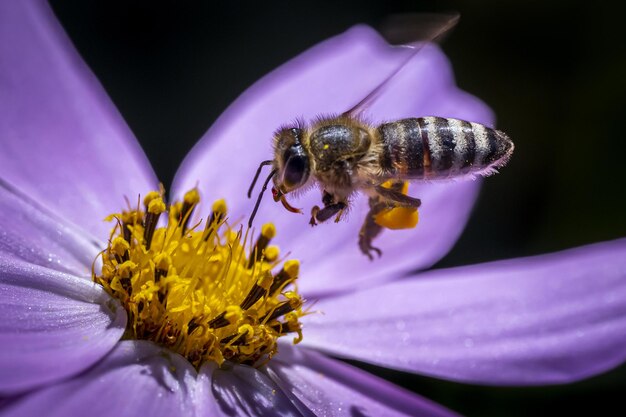
[[[431,25],[435,29],[425,40],[441,36],[457,20],[458,16],[453,16]],[[372,125],[361,117],[420,49],[414,47],[405,61],[350,110],[321,116],[309,124],[284,126],[275,132],[274,158],[261,162],[248,190],[250,198],[261,169],[271,165],[249,226],[270,181],[274,201],[294,213],[301,210],[291,206],[286,195],[319,185],[322,207],[311,209],[312,226],[333,217],[338,222],[354,194],[362,192],[369,196],[370,210],[359,232],[359,248],[373,259],[373,253],[381,256],[382,251],[372,242],[384,227],[389,227],[379,216],[397,208],[416,212],[421,205],[420,199],[406,195],[406,181],[486,176],[506,164],[513,142],[504,132],[479,123],[426,116]]]

